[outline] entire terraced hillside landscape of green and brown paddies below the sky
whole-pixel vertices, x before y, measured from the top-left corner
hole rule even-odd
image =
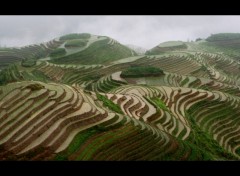
[[[54,41],[0,72],[0,160],[240,159],[233,47],[207,39],[137,56],[87,33]]]

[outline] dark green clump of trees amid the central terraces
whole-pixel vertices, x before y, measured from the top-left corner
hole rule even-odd
[[[122,78],[139,78],[139,77],[149,77],[149,76],[162,76],[163,71],[160,68],[152,66],[134,66],[123,70],[121,73]]]

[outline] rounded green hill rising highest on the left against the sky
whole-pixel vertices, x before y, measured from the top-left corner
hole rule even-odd
[[[66,38],[62,45],[66,54],[53,57],[51,62],[58,64],[105,64],[137,55],[135,51],[109,37],[89,34],[88,38],[80,39],[81,37],[77,36],[74,39],[73,35],[71,40]]]

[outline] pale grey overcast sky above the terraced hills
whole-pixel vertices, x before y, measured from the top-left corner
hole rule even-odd
[[[8,47],[84,32],[150,49],[170,40],[240,32],[240,16],[0,16],[0,24],[0,45]]]

